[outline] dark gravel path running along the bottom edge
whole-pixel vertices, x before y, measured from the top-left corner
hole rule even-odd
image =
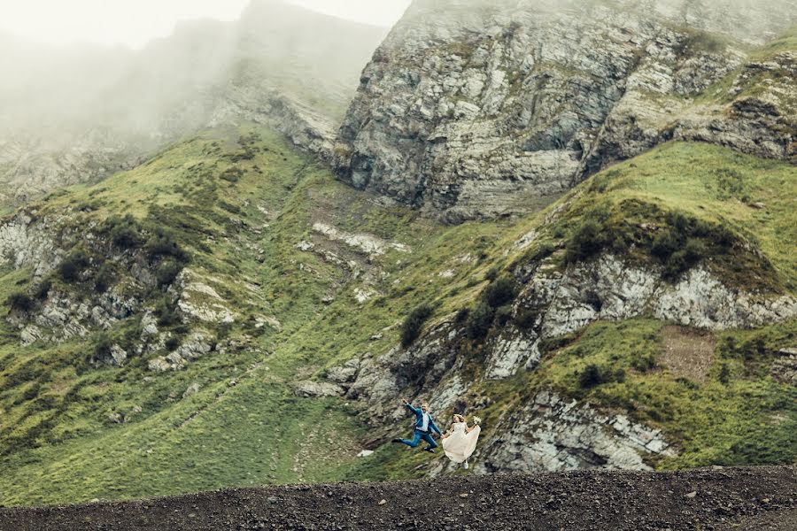
[[[495,474],[0,509],[2,531],[66,529],[793,531],[797,467]]]

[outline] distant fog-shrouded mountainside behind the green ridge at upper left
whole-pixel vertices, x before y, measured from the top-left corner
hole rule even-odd
[[[143,50],[15,41],[0,58],[0,212],[96,182],[205,127],[268,123],[329,151],[386,30],[280,0],[184,22]]]

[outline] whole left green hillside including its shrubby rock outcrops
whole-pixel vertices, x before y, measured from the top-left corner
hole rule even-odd
[[[386,350],[498,230],[416,218],[244,128],[7,219],[4,503],[344,476],[364,425],[301,381]]]

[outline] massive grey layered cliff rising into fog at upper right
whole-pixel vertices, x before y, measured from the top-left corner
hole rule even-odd
[[[528,212],[673,137],[785,157],[793,130],[756,127],[744,105],[690,110],[794,13],[791,0],[418,0],[362,74],[337,176],[457,221]]]

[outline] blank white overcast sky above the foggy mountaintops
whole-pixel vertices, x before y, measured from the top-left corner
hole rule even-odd
[[[344,19],[392,26],[410,0],[289,0]],[[0,0],[0,29],[36,42],[141,48],[183,19],[237,19],[249,0]],[[2,51],[0,51],[2,53]]]

